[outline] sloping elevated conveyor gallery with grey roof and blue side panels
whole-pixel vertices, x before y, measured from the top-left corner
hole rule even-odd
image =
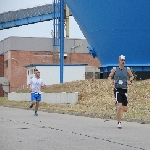
[[[56,6],[58,8],[58,6]],[[56,13],[57,17],[59,12]],[[9,11],[0,14],[0,30],[11,27],[49,21],[54,18],[52,4],[37,6],[33,8]]]

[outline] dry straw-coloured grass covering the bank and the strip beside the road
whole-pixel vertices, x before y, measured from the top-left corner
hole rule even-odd
[[[129,111],[123,113],[126,119],[150,120],[150,80],[134,81],[128,89]],[[24,89],[20,92],[28,92]],[[78,92],[79,99],[75,105],[40,104],[42,110],[53,110],[63,113],[77,113],[97,117],[116,115],[113,86],[106,79],[84,80],[47,86],[43,92]],[[0,105],[28,108],[29,102],[12,102],[7,98],[0,99]]]

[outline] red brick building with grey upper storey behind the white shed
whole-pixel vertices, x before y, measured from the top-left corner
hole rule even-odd
[[[9,37],[0,42],[0,77],[10,82],[10,92],[16,91],[27,82],[30,64],[58,64],[59,47],[53,47],[52,38]],[[85,39],[65,39],[65,64],[88,64],[99,67],[97,58],[89,54]],[[0,96],[3,90],[0,86]]]

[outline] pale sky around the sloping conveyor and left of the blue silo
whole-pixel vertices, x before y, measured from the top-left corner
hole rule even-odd
[[[19,9],[32,8],[45,4],[52,4],[53,0],[0,0],[0,14],[8,11],[15,11]],[[70,16],[70,38],[85,39],[79,25],[74,17]],[[0,30],[0,41],[10,36],[20,37],[52,37],[53,21],[39,22],[31,25],[23,25],[20,27],[13,27],[10,29]]]

